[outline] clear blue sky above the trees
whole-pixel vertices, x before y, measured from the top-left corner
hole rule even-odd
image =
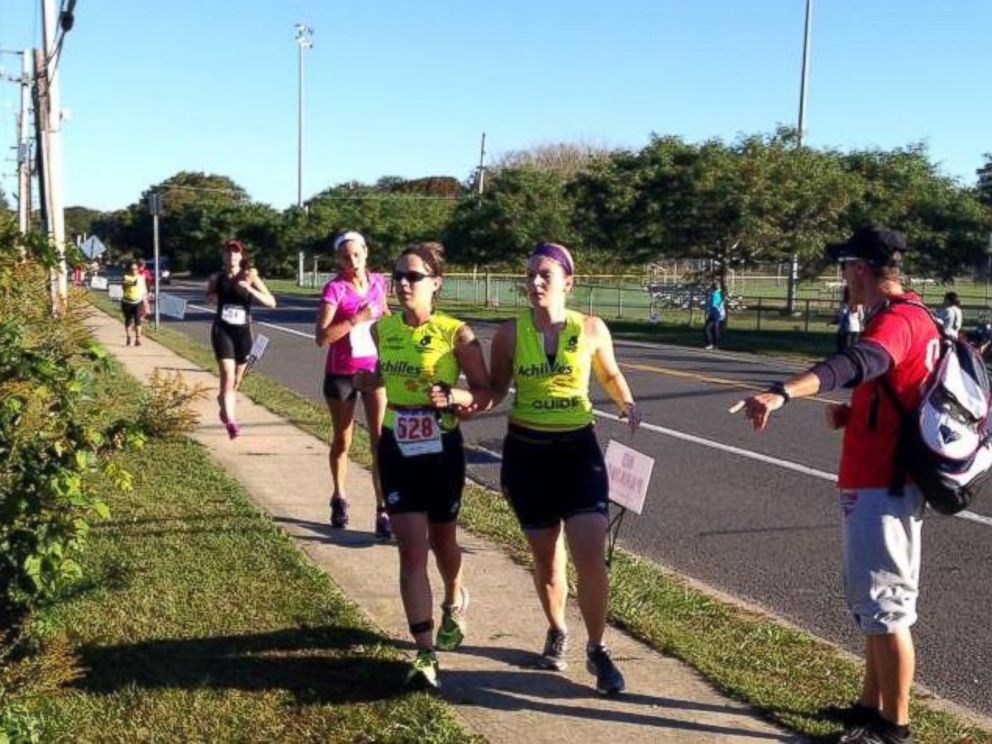
[[[57,0],[58,2],[59,0]],[[798,120],[805,0],[78,0],[59,64],[65,200],[119,209],[181,170],[297,198],[381,176],[468,178],[555,142],[638,149]],[[40,0],[0,0],[0,49],[40,45]],[[973,183],[992,151],[992,1],[814,0],[806,143],[925,142]],[[17,57],[0,55],[6,75]],[[4,191],[18,87],[0,84]]]

